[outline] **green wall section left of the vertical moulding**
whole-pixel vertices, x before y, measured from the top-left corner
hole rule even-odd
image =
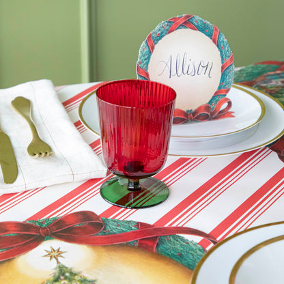
[[[0,0],[0,88],[81,81],[80,1]]]

